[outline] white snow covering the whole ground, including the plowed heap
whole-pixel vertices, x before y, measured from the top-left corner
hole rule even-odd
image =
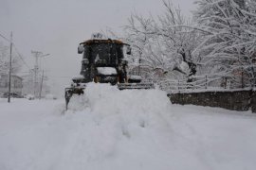
[[[254,170],[256,115],[172,105],[158,90],[0,99],[0,170]]]

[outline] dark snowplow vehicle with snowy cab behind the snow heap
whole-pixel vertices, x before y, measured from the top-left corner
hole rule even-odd
[[[78,53],[82,54],[81,76],[72,79],[71,87],[65,88],[67,105],[73,94],[83,94],[86,83],[110,83],[119,90],[153,89],[153,83],[142,83],[140,76],[128,76],[128,61],[125,56],[131,55],[129,44],[119,40],[101,39],[101,35],[93,35],[91,40],[81,42]]]

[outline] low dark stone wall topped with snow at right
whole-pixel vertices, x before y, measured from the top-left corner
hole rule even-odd
[[[199,105],[219,107],[227,110],[249,110],[256,112],[256,92],[203,92],[203,93],[171,93],[171,102],[181,105]]]

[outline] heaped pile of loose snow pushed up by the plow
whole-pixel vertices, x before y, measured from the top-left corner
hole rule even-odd
[[[84,95],[72,97],[68,108],[66,113],[91,114],[98,122],[116,117],[123,125],[135,123],[145,127],[155,124],[171,105],[166,93],[160,90],[119,91],[110,84],[89,83]]]

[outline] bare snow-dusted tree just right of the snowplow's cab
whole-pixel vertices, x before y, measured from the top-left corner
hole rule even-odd
[[[125,26],[126,40],[134,49],[134,58],[140,67],[148,68],[155,76],[175,75],[189,77],[196,73],[196,59],[192,51],[200,42],[197,30],[174,8],[163,1],[165,13],[145,18],[133,14]],[[179,74],[178,74],[179,73]]]

